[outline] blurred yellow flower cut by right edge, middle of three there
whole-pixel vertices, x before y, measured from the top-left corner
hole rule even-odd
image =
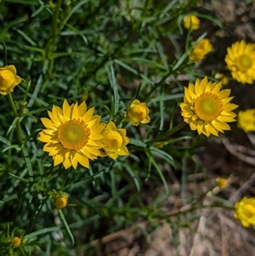
[[[237,127],[241,128],[246,133],[255,132],[255,109],[239,111]]]

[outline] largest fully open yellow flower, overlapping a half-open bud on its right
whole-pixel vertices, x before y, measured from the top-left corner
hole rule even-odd
[[[88,159],[102,156],[99,149],[104,146],[101,132],[105,124],[100,123],[101,117],[94,116],[94,107],[87,111],[84,101],[81,105],[69,105],[65,100],[62,109],[54,105],[48,116],[50,119],[41,118],[46,129],[38,139],[46,143],[42,151],[53,156],[54,166],[62,162],[65,169],[76,169],[79,162],[89,168]]]

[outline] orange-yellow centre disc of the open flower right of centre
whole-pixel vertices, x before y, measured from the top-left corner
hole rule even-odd
[[[201,120],[211,122],[220,116],[222,105],[218,95],[204,93],[195,99],[195,114]]]

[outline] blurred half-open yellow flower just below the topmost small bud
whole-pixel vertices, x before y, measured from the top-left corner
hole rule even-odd
[[[206,55],[212,51],[212,43],[207,38],[201,39],[190,51],[189,58],[193,62],[199,62],[206,58]]]

